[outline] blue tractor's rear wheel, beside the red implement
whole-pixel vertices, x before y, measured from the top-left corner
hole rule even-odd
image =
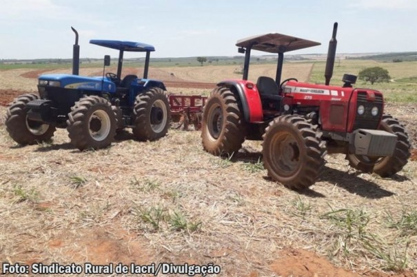
[[[152,87],[136,96],[133,120],[133,134],[137,140],[145,142],[164,137],[171,120],[170,102],[165,91]]]

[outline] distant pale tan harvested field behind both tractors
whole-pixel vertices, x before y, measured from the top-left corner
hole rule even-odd
[[[312,69],[312,64],[300,63],[289,64],[285,67],[283,79],[289,77],[298,78],[298,80],[307,80]],[[116,72],[116,67],[108,67],[106,71]],[[216,82],[225,79],[241,78],[242,74],[235,72],[241,71],[239,65],[227,66],[207,66],[207,67],[150,67],[149,76],[154,79],[163,80],[167,89],[171,87],[178,88],[196,88],[196,89],[212,89]],[[19,91],[37,91],[37,78],[41,74],[71,74],[71,69],[16,69],[1,71],[0,89],[11,89]],[[253,65],[250,71],[250,80],[256,82],[258,76],[275,76],[274,65]],[[101,76],[102,69],[86,68],[80,69],[82,76]],[[129,68],[123,69],[123,74],[136,74],[143,76],[142,69]],[[123,76],[124,76],[123,75]],[[12,81],[11,81],[12,80]]]

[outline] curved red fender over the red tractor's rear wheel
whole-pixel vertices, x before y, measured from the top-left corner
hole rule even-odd
[[[247,80],[224,80],[217,83],[218,87],[227,87],[241,101],[246,122],[263,121],[261,97],[253,82]]]

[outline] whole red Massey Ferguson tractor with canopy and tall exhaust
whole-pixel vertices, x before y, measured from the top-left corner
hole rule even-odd
[[[264,34],[236,43],[245,53],[243,80],[217,84],[205,102],[201,137],[205,151],[232,155],[245,140],[263,140],[263,164],[269,177],[288,188],[308,188],[323,172],[326,153],[344,153],[350,166],[389,177],[407,164],[410,143],[405,128],[383,113],[383,93],[329,85],[336,56],[337,23],[329,43],[325,85],[281,82],[284,53],[320,45],[294,36]],[[278,54],[275,80],[247,80],[252,49]]]

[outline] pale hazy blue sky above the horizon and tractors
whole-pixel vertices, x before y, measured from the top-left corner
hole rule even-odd
[[[0,7],[0,59],[71,58],[70,26],[82,58],[117,56],[90,39],[149,43],[154,57],[234,56],[239,38],[269,32],[322,43],[292,54],[325,53],[335,21],[338,53],[417,51],[417,0],[1,0]]]

